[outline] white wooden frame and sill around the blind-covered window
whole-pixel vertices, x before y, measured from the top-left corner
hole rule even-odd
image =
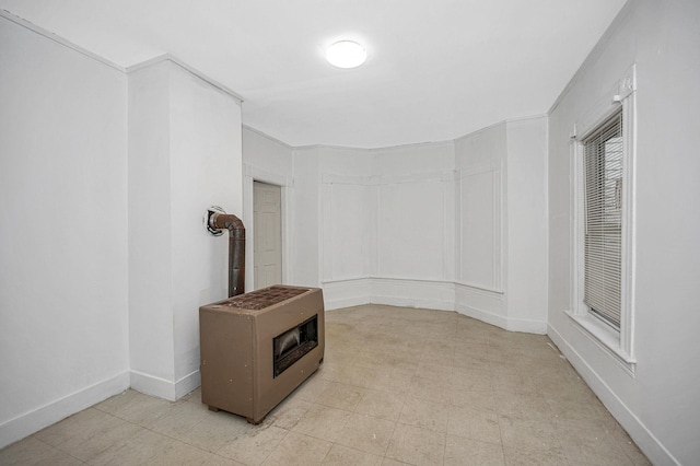
[[[567,315],[596,346],[612,357],[622,369],[634,376],[634,163],[637,141],[635,66],[630,67],[604,97],[579,119],[571,133],[571,302]],[[610,117],[622,112],[622,244],[620,275],[620,328],[615,329],[590,312],[584,304],[585,287],[585,199],[584,141]]]

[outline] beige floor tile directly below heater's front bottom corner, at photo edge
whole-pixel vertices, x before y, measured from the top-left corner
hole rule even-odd
[[[244,465],[260,465],[289,433],[275,426],[261,424],[240,434],[217,452]]]

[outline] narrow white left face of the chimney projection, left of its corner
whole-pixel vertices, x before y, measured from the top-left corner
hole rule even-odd
[[[129,75],[129,365],[147,393],[175,377],[170,73],[163,61]]]

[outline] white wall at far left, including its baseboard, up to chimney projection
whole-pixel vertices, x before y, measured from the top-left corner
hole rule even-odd
[[[0,16],[0,447],[128,387],[124,72]]]

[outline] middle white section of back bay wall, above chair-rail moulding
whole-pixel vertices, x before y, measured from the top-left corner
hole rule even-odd
[[[375,277],[450,281],[454,275],[454,144],[372,151],[377,190]]]

